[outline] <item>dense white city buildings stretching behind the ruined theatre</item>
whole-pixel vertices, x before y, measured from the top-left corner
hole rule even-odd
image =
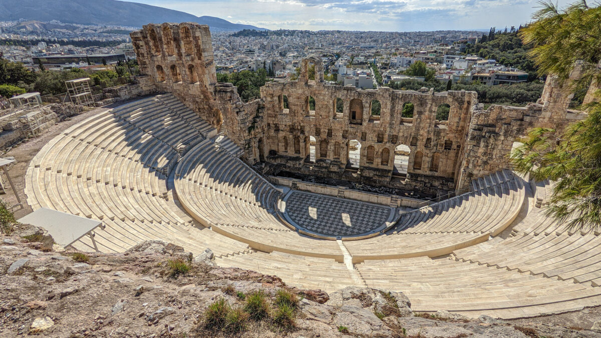
[[[97,74],[97,78],[121,77],[126,73],[123,70],[118,76],[110,72],[128,60],[133,67],[129,67],[127,74],[135,75],[135,53],[129,37],[133,29],[127,26],[66,24],[56,20],[0,22],[0,52],[5,60],[22,63],[34,72],[40,69],[67,72],[67,78],[72,78],[73,70],[78,69],[89,73],[103,72]],[[213,32],[212,42],[216,70],[218,74],[225,75],[221,76],[224,81],[228,80],[227,75],[244,70],[256,75],[260,69],[265,70],[264,81],[294,79],[299,61],[316,54],[322,57],[326,80],[332,83],[362,89],[388,86],[444,90],[452,85],[493,86],[535,81],[534,67],[523,64],[523,55],[517,55],[520,60],[515,60],[516,48],[517,54],[525,53],[520,49],[516,31],[514,26],[499,31],[491,28],[489,32],[243,29]],[[503,41],[497,44],[500,47],[490,50],[483,43],[492,41],[495,34]],[[510,55],[504,55],[507,52]],[[520,68],[522,66],[525,69]],[[18,84],[14,85],[18,87]],[[27,91],[40,91],[40,88],[27,85],[22,87]],[[255,88],[255,92],[257,90]],[[475,90],[483,93],[487,89],[480,87],[480,90]],[[535,97],[540,94],[542,85],[528,85],[520,87],[520,90],[526,91],[529,97]],[[61,94],[56,90],[41,91],[43,95]],[[521,105],[527,102],[508,99],[511,96],[513,94],[507,92],[507,97],[490,103]],[[483,102],[487,103],[486,100]]]

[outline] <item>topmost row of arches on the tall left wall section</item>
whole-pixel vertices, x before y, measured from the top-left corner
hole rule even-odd
[[[169,56],[173,56],[176,54],[182,54],[182,46],[180,45],[180,41],[178,40],[177,37],[174,36],[173,32],[171,31],[171,26],[168,25],[163,25],[161,26],[161,40],[162,40],[162,45],[163,48],[165,50],[165,54],[169,55]],[[183,51],[184,54],[186,56],[191,56],[194,55],[194,41],[192,40],[192,31],[190,30],[190,28],[188,26],[182,26],[179,28],[179,37],[181,37],[181,41],[183,44]],[[161,53],[161,44],[159,43],[159,37],[156,34],[156,30],[151,27],[148,29],[148,38],[150,39],[150,47],[151,47],[151,52],[154,55],[160,55]],[[201,43],[197,43],[197,55],[198,58],[201,59],[202,58],[202,51],[201,51]]]

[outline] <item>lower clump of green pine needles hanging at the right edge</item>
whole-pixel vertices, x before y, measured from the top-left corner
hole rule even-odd
[[[545,214],[570,229],[601,229],[601,103],[563,132],[535,128],[511,153],[516,171],[554,180]]]

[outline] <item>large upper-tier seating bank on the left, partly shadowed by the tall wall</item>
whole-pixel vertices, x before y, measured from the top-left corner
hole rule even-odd
[[[218,255],[248,250],[242,242],[195,226],[168,200],[165,168],[177,162],[176,149],[185,152],[204,138],[187,122],[177,124],[177,133],[169,131],[168,122],[177,117],[170,112],[171,101],[160,97],[101,112],[53,138],[29,164],[28,203],[33,209],[102,220],[105,230],[95,238],[101,251],[124,251],[147,239],[171,241],[195,253],[207,247]],[[140,111],[154,113],[150,118]],[[208,126],[196,120],[199,128]],[[87,238],[75,247],[94,249]]]

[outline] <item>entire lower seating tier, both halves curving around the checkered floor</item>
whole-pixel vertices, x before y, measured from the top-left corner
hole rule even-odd
[[[271,210],[279,191],[210,143],[198,144],[182,158],[174,186],[194,218],[252,248],[344,260],[336,242],[299,235],[282,224]],[[345,244],[353,262],[448,254],[501,232],[517,217],[523,198],[522,179],[500,172],[487,177],[478,191],[404,214],[384,236]]]

